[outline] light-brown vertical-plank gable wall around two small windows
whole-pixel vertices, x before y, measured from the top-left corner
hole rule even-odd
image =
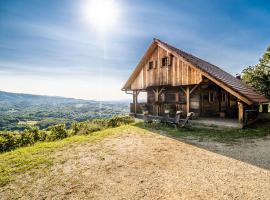
[[[162,58],[168,57],[170,66],[162,67]],[[153,61],[153,68],[148,69],[149,61]],[[183,58],[172,56],[170,52],[157,46],[144,63],[141,71],[131,84],[132,90],[146,89],[150,86],[179,86],[198,84],[202,81],[202,74]]]

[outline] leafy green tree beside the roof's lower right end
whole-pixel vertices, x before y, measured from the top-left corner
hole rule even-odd
[[[270,98],[270,46],[257,65],[249,66],[242,71],[242,79]]]

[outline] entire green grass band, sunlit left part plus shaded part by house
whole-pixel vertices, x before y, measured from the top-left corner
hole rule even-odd
[[[268,115],[269,117],[270,115]],[[161,126],[158,132],[180,139],[214,140],[223,143],[238,142],[241,139],[263,138],[270,135],[270,118],[265,118],[256,124],[256,127],[248,129],[210,129],[192,128],[175,129],[173,127]],[[142,129],[143,128],[143,129]],[[98,142],[110,135],[119,135],[125,130],[136,133],[145,133],[142,122],[133,125],[125,125],[117,128],[105,129],[93,132],[89,135],[72,136],[54,142],[40,142],[33,146],[18,148],[11,152],[0,154],[0,187],[14,180],[19,175],[29,170],[42,170],[52,166],[55,158],[52,156],[57,150],[64,149],[70,144],[84,142]],[[156,132],[151,128],[148,130]]]

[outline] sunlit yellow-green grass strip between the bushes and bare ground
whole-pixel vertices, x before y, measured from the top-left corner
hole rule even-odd
[[[110,128],[89,135],[72,136],[54,142],[40,142],[33,146],[18,148],[0,154],[0,187],[16,176],[33,169],[46,169],[54,163],[52,153],[71,143],[98,142],[107,136],[121,133],[127,127]]]

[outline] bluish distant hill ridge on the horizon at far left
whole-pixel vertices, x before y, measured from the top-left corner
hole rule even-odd
[[[0,91],[0,105],[40,105],[40,104],[70,104],[70,103],[94,103],[92,100],[65,98],[58,96],[33,95],[23,93],[11,93]]]

